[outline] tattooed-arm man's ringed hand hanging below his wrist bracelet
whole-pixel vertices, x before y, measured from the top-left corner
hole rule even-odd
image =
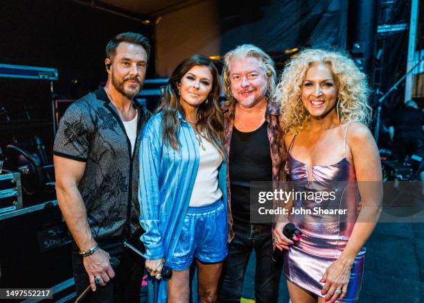
[[[110,278],[115,277],[115,272],[109,259],[109,254],[100,248],[94,254],[82,257],[85,270],[89,275],[91,290],[96,291],[94,279],[101,277],[99,284],[100,286],[105,286],[110,281]]]

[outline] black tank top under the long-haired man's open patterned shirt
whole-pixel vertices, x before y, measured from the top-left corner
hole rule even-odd
[[[233,219],[250,223],[250,182],[272,180],[267,122],[253,132],[240,132],[233,127],[229,153],[229,179]]]

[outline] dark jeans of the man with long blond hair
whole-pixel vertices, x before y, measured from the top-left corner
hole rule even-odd
[[[240,302],[243,279],[253,249],[256,254],[256,303],[277,302],[281,267],[277,268],[272,261],[271,226],[234,222],[233,231],[236,236],[229,245],[222,269],[220,302]]]

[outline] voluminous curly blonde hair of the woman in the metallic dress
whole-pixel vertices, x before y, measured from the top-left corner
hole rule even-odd
[[[366,75],[344,53],[306,49],[288,63],[276,87],[276,101],[280,105],[286,132],[299,133],[310,121],[308,110],[299,100],[306,71],[316,63],[328,64],[333,72],[335,85],[339,92],[340,123],[360,121],[369,125],[371,107],[367,103],[369,87]]]

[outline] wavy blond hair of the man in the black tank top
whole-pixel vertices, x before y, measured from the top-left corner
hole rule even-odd
[[[224,107],[236,102],[234,99],[233,93],[231,92],[231,79],[230,79],[230,66],[231,62],[240,58],[253,57],[258,59],[262,63],[263,70],[268,78],[267,99],[270,100],[275,96],[276,89],[276,71],[274,67],[274,61],[271,57],[265,53],[262,49],[259,49],[258,46],[253,44],[242,44],[226,53],[224,55],[224,68],[222,69],[222,84],[224,88],[225,95],[227,96],[227,101],[224,102]]]

